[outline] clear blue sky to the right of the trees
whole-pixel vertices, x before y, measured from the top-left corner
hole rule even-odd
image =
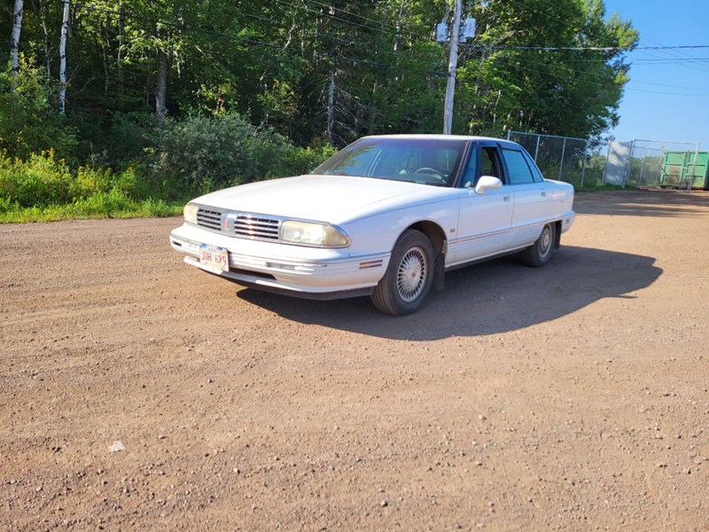
[[[709,3],[605,0],[640,33],[639,46],[709,45]],[[631,82],[620,103],[619,141],[701,143],[709,151],[709,48],[637,50],[627,55]],[[697,59],[697,60],[692,60]]]

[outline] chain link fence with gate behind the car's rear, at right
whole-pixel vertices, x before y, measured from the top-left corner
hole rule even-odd
[[[595,188],[620,186],[706,188],[706,153],[700,145],[651,140],[594,141],[508,131],[507,138],[523,145],[549,179]]]

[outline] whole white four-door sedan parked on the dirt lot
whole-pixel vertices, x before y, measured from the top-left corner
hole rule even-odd
[[[212,192],[170,243],[201,270],[261,290],[370,295],[401,316],[445,272],[520,252],[541,266],[574,220],[573,186],[487,137],[363,137],[311,174]]]

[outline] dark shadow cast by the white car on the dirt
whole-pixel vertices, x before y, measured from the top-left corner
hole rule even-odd
[[[309,301],[250,288],[240,299],[302,324],[323,325],[392,340],[440,340],[523,329],[563,317],[607,297],[635,298],[662,273],[655,259],[563,246],[543,268],[515,257],[448,272],[415,314],[392,317],[369,298]]]

